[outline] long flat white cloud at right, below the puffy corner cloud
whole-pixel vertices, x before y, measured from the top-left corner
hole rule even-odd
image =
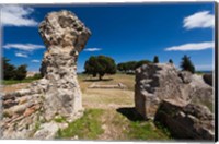
[[[172,46],[165,48],[165,51],[188,51],[188,50],[204,50],[214,48],[212,41],[205,43],[188,43],[180,46]]]

